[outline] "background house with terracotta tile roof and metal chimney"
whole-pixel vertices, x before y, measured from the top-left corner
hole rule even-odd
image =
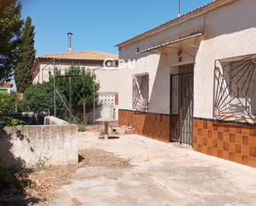
[[[97,118],[118,117],[118,67],[104,68],[104,60],[118,60],[118,55],[104,53],[95,50],[72,52],[70,44],[66,53],[53,55],[40,55],[36,57],[31,69],[33,84],[49,80],[53,74],[54,66],[65,74],[70,66],[89,69],[96,74],[96,81],[100,84],[99,103],[102,107],[97,108]],[[93,108],[86,115],[92,122]]]

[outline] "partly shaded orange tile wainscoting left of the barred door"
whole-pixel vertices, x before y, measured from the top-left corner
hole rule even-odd
[[[119,109],[119,125],[133,126],[146,137],[169,142],[170,118],[167,114],[141,113]]]

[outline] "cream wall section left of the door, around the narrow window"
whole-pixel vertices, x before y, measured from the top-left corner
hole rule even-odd
[[[194,45],[193,40],[186,41],[187,45]],[[195,49],[187,46],[183,42],[159,51],[158,54],[133,55],[136,46],[129,46],[120,50],[120,59],[129,60],[135,58],[134,69],[119,69],[120,90],[119,108],[133,109],[133,74],[147,72],[149,74],[149,112],[150,113],[169,113],[170,111],[170,76],[178,72],[178,48],[185,50],[183,63],[194,60]],[[132,53],[132,55],[130,55]],[[128,54],[128,58],[125,55]],[[133,57],[132,57],[133,56]],[[123,58],[124,57],[124,58]],[[133,60],[133,59],[132,59]]]

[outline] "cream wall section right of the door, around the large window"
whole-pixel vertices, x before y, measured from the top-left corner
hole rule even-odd
[[[206,17],[196,56],[194,116],[213,117],[215,60],[256,53],[256,1],[239,0]]]

